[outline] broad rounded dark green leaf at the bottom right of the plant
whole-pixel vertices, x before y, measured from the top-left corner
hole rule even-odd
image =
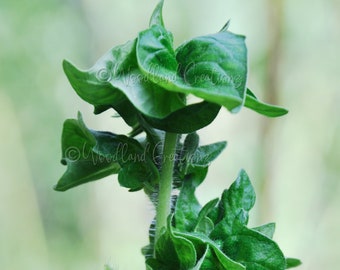
[[[247,270],[283,270],[286,266],[282,251],[273,240],[245,226],[225,238],[223,252]]]

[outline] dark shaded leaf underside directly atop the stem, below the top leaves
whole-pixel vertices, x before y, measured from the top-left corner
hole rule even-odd
[[[203,101],[179,109],[164,119],[146,117],[146,120],[154,128],[185,134],[209,125],[216,118],[220,108],[219,105]]]

